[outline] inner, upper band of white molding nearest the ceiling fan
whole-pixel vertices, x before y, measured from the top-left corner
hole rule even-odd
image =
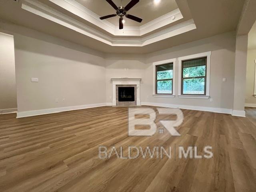
[[[100,20],[100,16],[95,14],[88,8],[82,6],[75,0],[49,0],[50,2],[64,8],[65,10],[72,12],[76,16],[102,28],[106,32],[114,36],[142,36],[149,32],[152,32],[158,28],[171,24],[183,18],[180,10],[177,8],[163,16],[160,16],[142,26],[128,26],[123,30],[119,30],[119,26],[108,22],[107,20]],[[172,17],[174,18],[172,19]]]

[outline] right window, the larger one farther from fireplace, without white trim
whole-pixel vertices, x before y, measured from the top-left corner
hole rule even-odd
[[[206,61],[206,57],[182,61],[183,95],[206,95]]]

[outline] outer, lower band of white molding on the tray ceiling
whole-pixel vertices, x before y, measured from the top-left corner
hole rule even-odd
[[[22,2],[22,9],[32,12],[38,16],[51,20],[62,26],[70,28],[76,32],[99,40],[111,46],[146,46],[184,32],[196,29],[196,25],[193,19],[182,22],[160,32],[156,32],[152,35],[144,38],[112,38],[107,34],[99,32],[98,30],[82,23],[74,18],[67,16],[52,7],[43,4],[37,0],[25,0]]]

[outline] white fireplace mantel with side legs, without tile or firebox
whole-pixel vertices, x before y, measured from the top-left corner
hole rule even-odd
[[[141,78],[111,78],[112,81],[112,106],[116,106],[116,85],[136,85],[137,105],[140,105],[140,80]]]

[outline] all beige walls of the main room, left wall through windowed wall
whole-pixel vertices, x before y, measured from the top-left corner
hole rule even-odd
[[[175,46],[151,54],[103,54],[34,30],[5,27],[14,34],[18,117],[112,103],[110,78],[142,78],[142,104],[231,113],[236,33]],[[152,96],[153,62],[212,51],[210,99]],[[39,78],[38,83],[30,78]],[[178,60],[176,62],[178,77]],[[222,82],[226,78],[227,82]],[[175,82],[178,93],[178,78]],[[58,98],[59,102],[55,102]],[[62,99],[65,99],[62,102]]]

